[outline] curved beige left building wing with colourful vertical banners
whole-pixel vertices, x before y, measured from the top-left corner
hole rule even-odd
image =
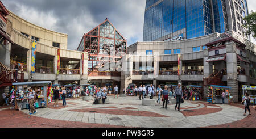
[[[6,24],[6,30],[1,30],[1,92],[9,92],[11,82],[88,83],[88,53],[67,49],[67,34],[39,27],[4,7],[1,11]],[[15,79],[16,66],[19,71]]]

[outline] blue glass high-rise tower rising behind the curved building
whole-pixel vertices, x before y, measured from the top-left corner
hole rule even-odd
[[[244,36],[247,15],[246,0],[147,0],[143,41],[190,39],[230,30]]]

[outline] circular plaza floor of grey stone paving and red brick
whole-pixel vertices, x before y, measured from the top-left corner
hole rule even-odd
[[[35,115],[28,115],[27,109],[17,111],[0,107],[0,128],[256,127],[256,111],[250,107],[251,116],[243,116],[244,110],[240,104],[218,105],[185,101],[181,104],[181,112],[178,112],[175,111],[174,104],[169,104],[167,109],[159,104],[142,106],[142,100],[135,96],[109,98],[110,104],[105,105],[92,105],[92,100],[82,101],[82,98],[68,99],[65,107],[61,102],[57,108],[51,103],[47,108],[37,109]],[[116,118],[119,119],[115,120]]]

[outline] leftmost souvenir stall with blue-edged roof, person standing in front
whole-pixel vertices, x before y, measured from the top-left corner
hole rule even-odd
[[[35,102],[36,108],[47,107],[47,86],[51,81],[40,82],[15,82],[13,83],[13,93],[15,94],[15,109],[28,109],[28,87],[38,95],[38,100]]]

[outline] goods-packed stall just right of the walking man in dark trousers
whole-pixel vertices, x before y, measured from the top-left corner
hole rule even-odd
[[[189,86],[187,86],[187,89],[190,92],[191,100],[193,100],[193,101],[201,100],[202,90],[203,90],[201,86],[189,85]]]

